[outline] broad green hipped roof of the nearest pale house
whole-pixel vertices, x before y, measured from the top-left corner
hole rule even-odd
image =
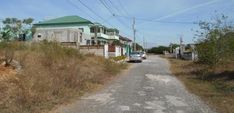
[[[91,21],[84,19],[79,16],[64,16],[60,18],[55,18],[47,21],[39,22],[35,25],[54,25],[54,24],[79,24],[79,23],[89,23],[92,24]]]

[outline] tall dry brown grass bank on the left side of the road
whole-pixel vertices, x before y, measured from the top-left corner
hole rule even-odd
[[[0,67],[0,113],[48,112],[101,87],[127,68],[55,42],[0,43],[0,59],[9,51],[22,70],[16,73],[14,67]]]

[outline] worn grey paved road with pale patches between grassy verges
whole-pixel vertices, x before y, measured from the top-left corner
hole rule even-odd
[[[167,60],[149,56],[95,94],[56,113],[213,113],[170,72]]]

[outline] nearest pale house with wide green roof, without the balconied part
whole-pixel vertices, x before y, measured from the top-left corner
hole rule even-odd
[[[34,41],[56,40],[61,43],[90,45],[90,27],[93,23],[79,16],[64,16],[34,24]]]

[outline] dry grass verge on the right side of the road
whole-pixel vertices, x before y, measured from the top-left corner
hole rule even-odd
[[[200,96],[219,113],[233,113],[234,62],[220,65],[211,71],[207,66],[192,61],[167,59],[172,73],[190,92]]]

